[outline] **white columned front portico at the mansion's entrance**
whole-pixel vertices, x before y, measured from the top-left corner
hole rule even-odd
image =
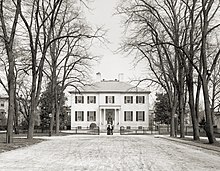
[[[100,105],[99,106],[99,127],[105,131],[108,123],[112,123],[114,130],[120,129],[120,105]]]

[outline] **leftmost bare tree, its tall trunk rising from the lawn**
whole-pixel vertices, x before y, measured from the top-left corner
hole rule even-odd
[[[20,5],[21,1],[12,1],[11,4],[13,7],[12,13],[14,13],[14,18],[12,19],[11,24],[11,30],[8,29],[7,25],[7,15],[6,15],[6,8],[7,6],[6,2],[1,0],[0,1],[0,20],[1,20],[1,30],[2,30],[2,35],[1,39],[4,42],[4,47],[6,50],[7,54],[7,59],[9,63],[9,69],[8,69],[8,75],[7,75],[7,80],[8,80],[8,94],[9,94],[9,111],[8,111],[8,123],[7,123],[7,137],[6,137],[6,142],[11,143],[13,141],[13,116],[15,112],[15,73],[14,73],[14,68],[15,68],[15,56],[13,52],[13,45],[14,45],[14,39],[15,39],[15,32],[17,28],[17,23],[18,23],[18,17],[19,17],[19,12],[20,12]],[[9,8],[10,9],[10,8]],[[9,11],[7,11],[9,12]],[[10,11],[11,12],[11,11]]]

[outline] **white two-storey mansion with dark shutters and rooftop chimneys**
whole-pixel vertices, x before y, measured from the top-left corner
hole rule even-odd
[[[108,123],[118,131],[124,127],[149,126],[149,91],[119,80],[101,80],[84,86],[80,93],[71,91],[71,128],[96,124],[101,131]],[[122,75],[119,78],[123,77]]]

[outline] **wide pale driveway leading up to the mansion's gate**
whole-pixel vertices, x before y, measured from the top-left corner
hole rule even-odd
[[[1,153],[0,170],[220,170],[220,153],[151,135],[71,135],[48,139]]]

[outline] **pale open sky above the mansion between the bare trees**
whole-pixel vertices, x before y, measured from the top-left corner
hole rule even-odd
[[[110,41],[107,47],[103,44],[92,48],[92,53],[101,56],[100,63],[94,66],[95,73],[100,72],[103,79],[116,79],[119,73],[124,74],[124,80],[129,81],[138,77],[141,68],[133,67],[133,57],[125,54],[115,53],[122,40],[123,27],[121,16],[113,15],[119,0],[94,0],[89,4],[91,11],[87,11],[87,20],[92,25],[103,26],[107,30],[106,38]]]

